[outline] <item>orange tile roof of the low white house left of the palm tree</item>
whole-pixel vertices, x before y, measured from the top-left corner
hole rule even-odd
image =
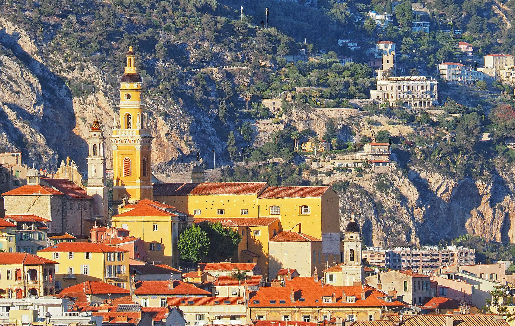
[[[170,288],[170,281],[139,281],[136,283],[135,295],[192,295],[211,296],[211,292],[188,284],[182,281],[173,281],[173,288]]]

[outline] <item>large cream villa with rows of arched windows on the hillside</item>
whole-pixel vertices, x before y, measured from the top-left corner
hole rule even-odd
[[[370,97],[389,106],[401,100],[407,108],[429,108],[438,105],[438,82],[431,77],[390,77],[378,80]]]

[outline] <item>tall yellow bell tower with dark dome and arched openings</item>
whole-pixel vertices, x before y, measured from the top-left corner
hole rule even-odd
[[[153,137],[142,128],[141,76],[129,46],[120,80],[120,129],[113,126],[113,201],[152,198],[150,147]]]

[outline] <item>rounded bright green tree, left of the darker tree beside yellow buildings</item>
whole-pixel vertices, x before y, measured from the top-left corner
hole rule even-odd
[[[208,233],[200,226],[192,225],[179,235],[177,242],[179,255],[184,262],[198,263],[209,251]]]

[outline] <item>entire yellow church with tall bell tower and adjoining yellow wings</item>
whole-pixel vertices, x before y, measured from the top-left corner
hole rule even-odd
[[[320,247],[312,272],[315,265],[341,261],[339,197],[329,186],[271,187],[266,182],[211,183],[201,182],[201,178],[196,179],[199,183],[152,184],[152,136],[144,127],[141,92],[141,77],[130,48],[120,84],[120,127],[115,125],[112,136],[113,201],[121,203],[112,224],[140,237],[149,261],[178,266],[180,233],[201,221],[221,222],[238,232],[242,242],[233,261],[258,263],[265,275],[270,242],[277,247],[279,237],[272,239],[282,231],[296,232],[302,239],[305,235],[313,246]],[[283,234],[280,238],[288,242],[299,237]],[[296,253],[289,255],[295,257]],[[274,258],[274,266],[283,266],[281,259]],[[292,262],[293,266],[283,267],[296,268]]]

